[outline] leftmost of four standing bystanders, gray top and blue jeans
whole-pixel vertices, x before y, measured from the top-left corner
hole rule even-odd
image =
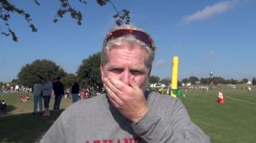
[[[37,113],[37,105],[39,105],[39,114],[42,115],[42,77],[37,76],[36,81],[33,85],[33,95],[34,95],[34,108],[32,115]]]

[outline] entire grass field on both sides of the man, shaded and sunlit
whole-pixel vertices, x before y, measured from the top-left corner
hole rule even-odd
[[[187,90],[187,96],[182,101],[193,122],[211,137],[211,142],[255,142],[255,87],[252,88],[251,95],[246,94],[246,90],[222,88],[225,104],[217,102],[218,90]],[[0,94],[0,100],[5,100],[8,104],[8,115],[0,116],[0,142],[36,142],[61,113],[51,111],[50,117],[31,115],[32,102],[18,102],[19,95],[20,93]],[[53,101],[51,98],[50,109],[53,108]],[[61,109],[70,104],[70,98],[62,98]]]

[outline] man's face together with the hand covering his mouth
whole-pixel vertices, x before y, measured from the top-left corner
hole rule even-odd
[[[150,68],[146,66],[145,60],[143,48],[124,43],[111,49],[108,62],[100,66],[110,104],[133,123],[137,123],[148,112],[144,93]]]

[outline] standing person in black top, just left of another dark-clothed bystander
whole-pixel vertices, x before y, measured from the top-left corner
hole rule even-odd
[[[61,97],[64,95],[64,85],[59,81],[61,77],[57,77],[57,81],[53,84],[53,91],[55,94],[55,100],[53,105],[54,111],[59,111],[59,106],[61,104]]]

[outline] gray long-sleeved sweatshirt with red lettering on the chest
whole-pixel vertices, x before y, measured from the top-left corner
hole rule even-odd
[[[154,92],[146,98],[150,110],[138,123],[111,107],[106,95],[78,101],[62,112],[40,142],[210,142],[180,100]]]

